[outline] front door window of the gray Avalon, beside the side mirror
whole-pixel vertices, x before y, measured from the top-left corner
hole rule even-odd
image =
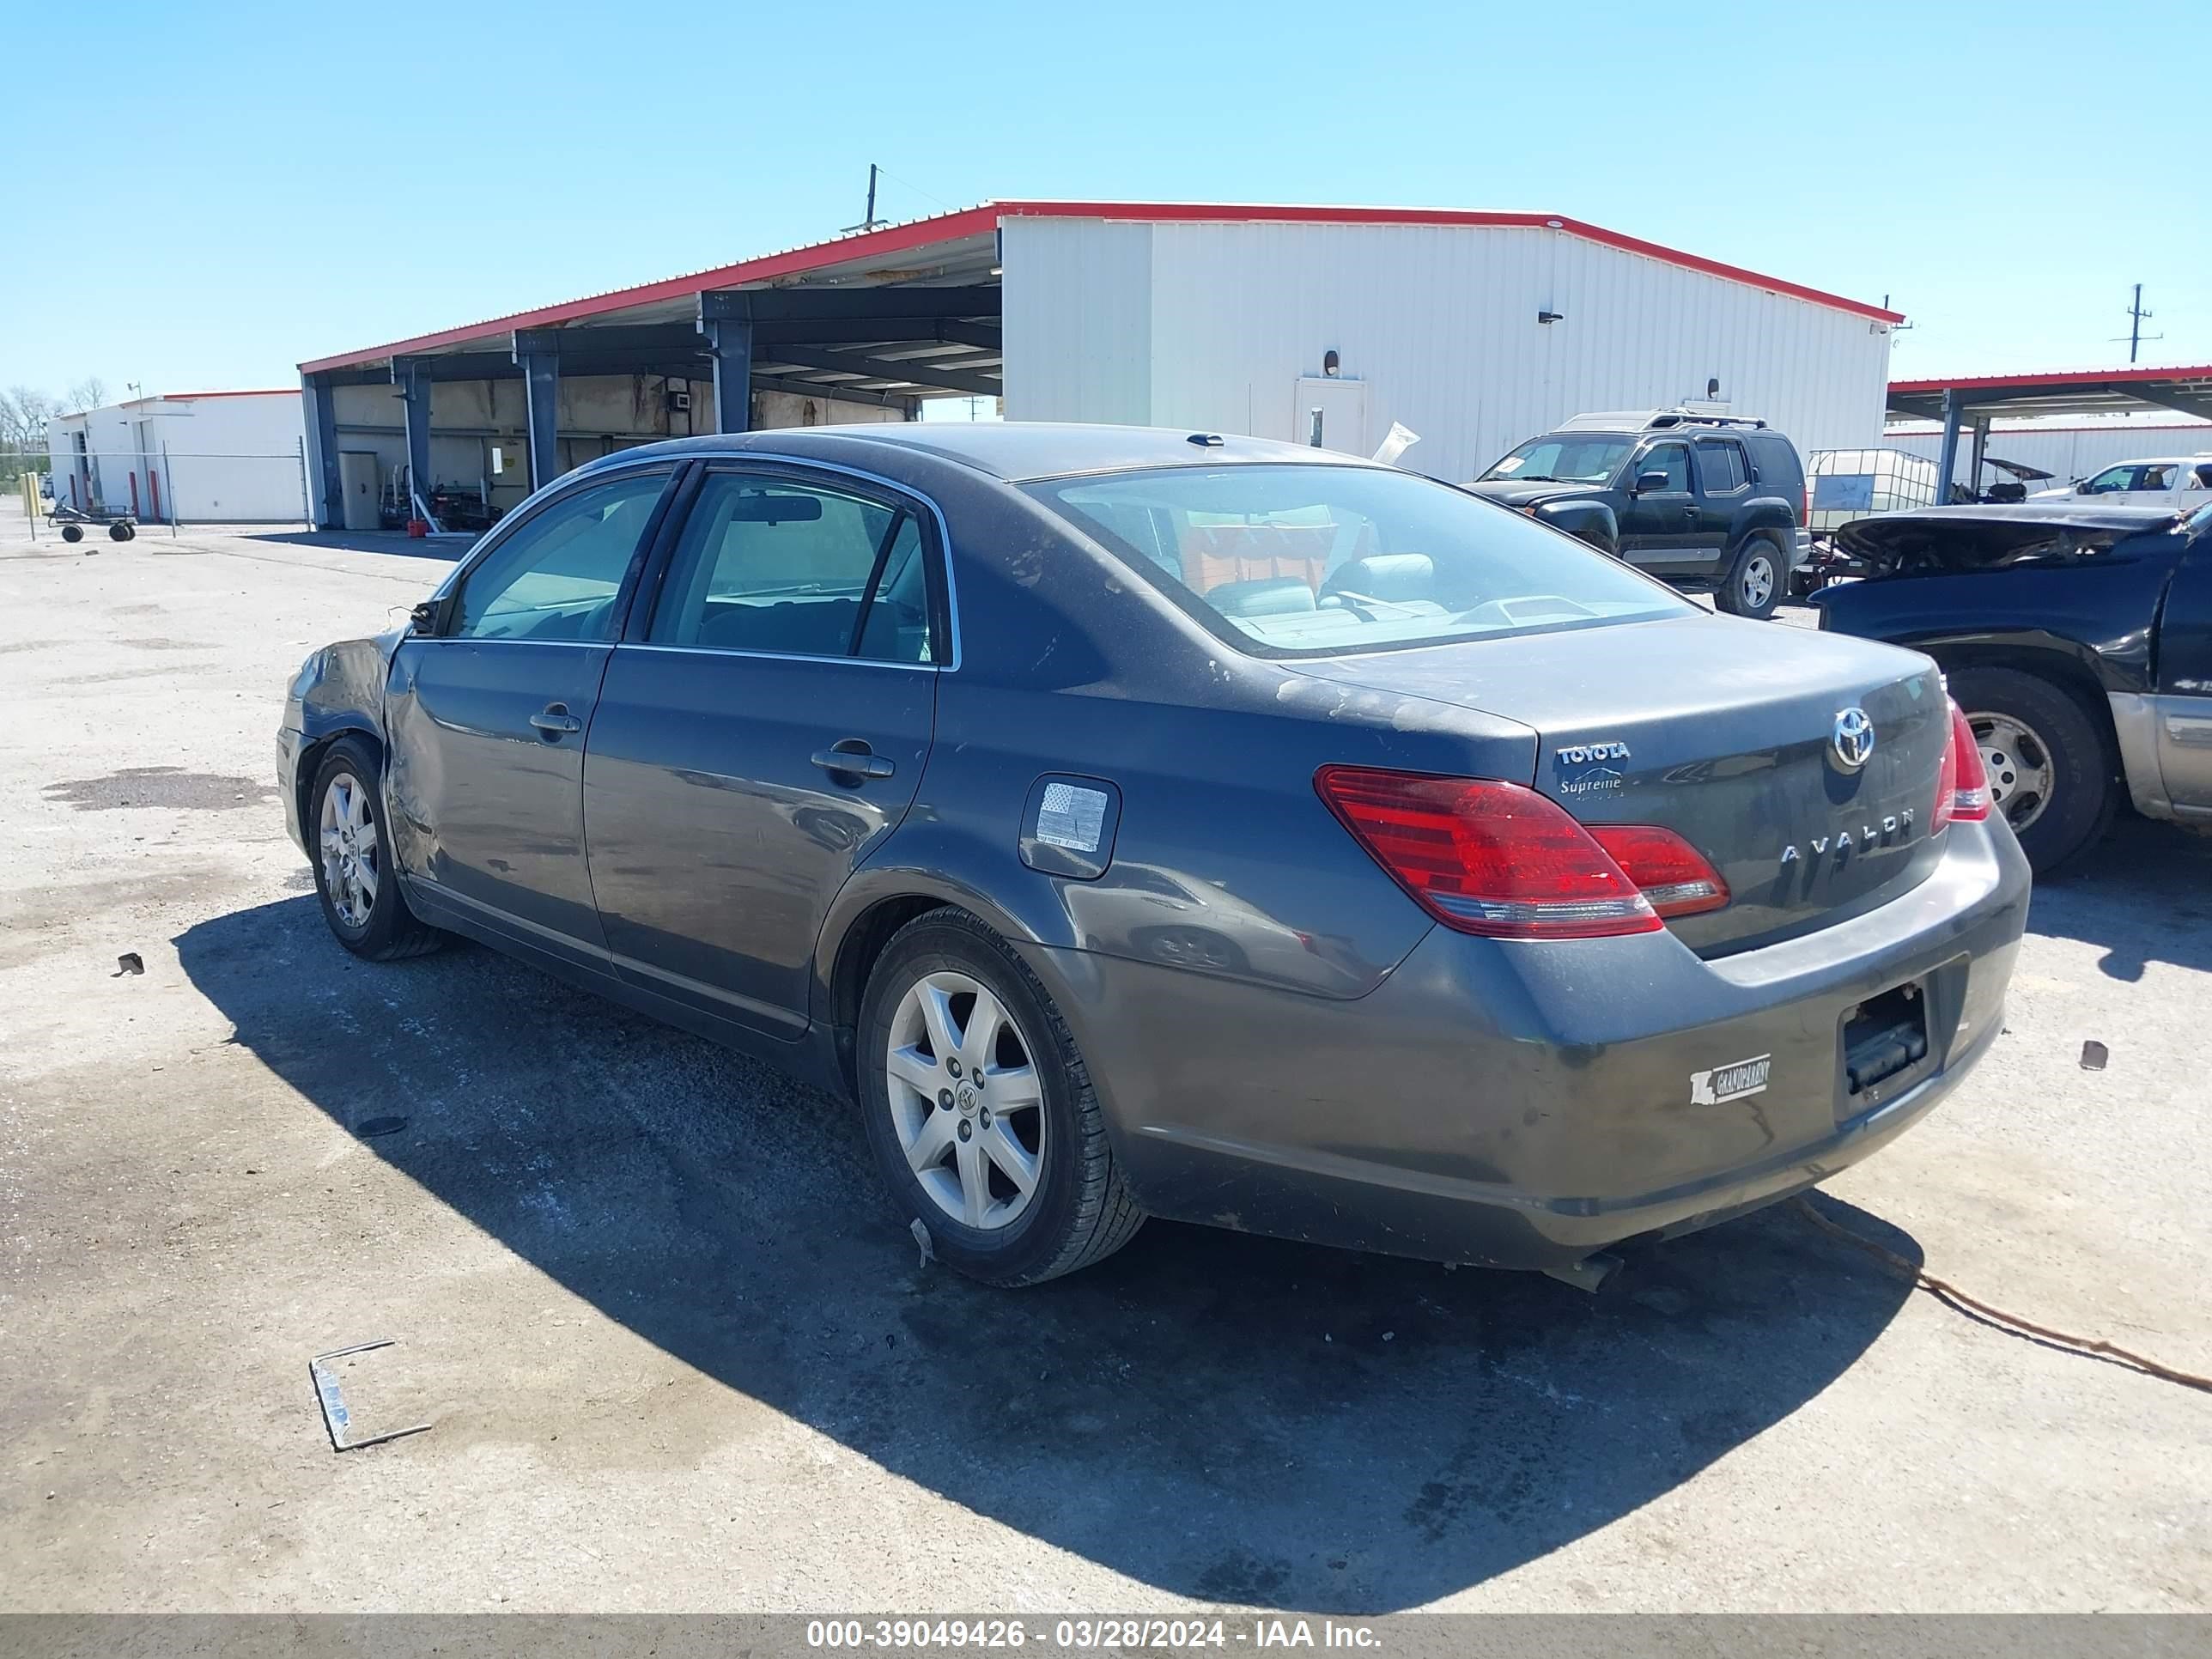
[[[462,580],[460,639],[613,639],[622,577],[668,471],[630,473],[533,513]]]

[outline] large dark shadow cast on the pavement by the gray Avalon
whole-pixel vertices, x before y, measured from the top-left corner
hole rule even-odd
[[[1639,1248],[1597,1296],[1166,1223],[993,1292],[925,1265],[854,1113],[768,1066],[491,951],[354,962],[312,896],[195,925],[177,951],[237,1044],[341,1128],[407,1117],[363,1146],[611,1321],[1179,1597],[1380,1613],[1464,1590],[1787,1418],[1909,1294],[1787,1206]],[[436,1274],[414,1285],[409,1345],[518,1363],[440,1329],[465,1316],[440,1316],[458,1292]],[[513,1438],[518,1409],[476,1431]],[[712,1413],[706,1433],[734,1433]],[[566,1451],[577,1425],[551,1427]]]

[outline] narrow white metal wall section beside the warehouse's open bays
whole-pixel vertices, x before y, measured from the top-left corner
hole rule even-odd
[[[1152,226],[1009,219],[1006,418],[1152,418]]]

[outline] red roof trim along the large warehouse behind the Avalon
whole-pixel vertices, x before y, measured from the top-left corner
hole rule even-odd
[[[984,230],[998,228],[1000,219],[1150,219],[1166,223],[1323,223],[1323,226],[1493,226],[1493,228],[1522,228],[1522,230],[1562,230],[1584,241],[1595,241],[1606,248],[1619,248],[1621,252],[1644,254],[1646,259],[1659,259],[1668,265],[1679,265],[1683,270],[1694,270],[1705,276],[1723,276],[1734,283],[1745,283],[1750,288],[1763,288],[1772,294],[1787,294],[1792,299],[1805,299],[1814,305],[1829,305],[1834,310],[1851,312],[1854,316],[1867,316],[1878,323],[1902,323],[1902,312],[1882,310],[1880,305],[1867,305],[1856,299],[1843,299],[1840,294],[1827,294],[1818,288],[1805,288],[1803,283],[1785,283],[1778,276],[1763,276],[1756,270],[1745,270],[1743,265],[1723,265],[1717,259],[1701,259],[1699,254],[1681,252],[1679,248],[1666,248],[1657,241],[1644,241],[1639,237],[1624,237],[1617,230],[1606,230],[1604,226],[1593,226],[1582,219],[1564,219],[1555,212],[1484,212],[1469,208],[1301,208],[1301,206],[1256,206],[1256,204],[1206,204],[1206,201],[987,201],[980,208],[962,208],[958,212],[945,212],[936,219],[914,219],[911,223],[889,226],[885,230],[869,230],[856,237],[836,237],[832,241],[810,243],[805,248],[790,248],[781,254],[765,254],[761,259],[748,259],[737,265],[721,265],[717,270],[701,270],[688,276],[670,276],[657,283],[641,283],[637,288],[615,288],[606,294],[591,294],[586,299],[564,301],[560,305],[540,305],[531,312],[511,312],[507,316],[491,316],[482,323],[467,323],[462,327],[438,330],[436,334],[416,334],[407,341],[392,341],[389,345],[372,345],[358,352],[338,352],[336,356],[314,358],[301,363],[301,374],[314,374],[319,369],[343,369],[358,363],[374,363],[407,352],[429,352],[438,345],[458,345],[462,341],[476,341],[491,334],[507,334],[518,327],[555,327],[560,323],[575,323],[586,316],[602,316],[606,312],[628,310],[630,305],[653,305],[664,299],[686,299],[688,294],[699,294],[708,288],[737,288],[741,283],[774,281],[776,276],[796,276],[810,270],[821,270],[825,265],[843,265],[852,259],[872,259],[883,254],[898,254],[911,248],[922,248],[931,241],[949,241],[956,237],[973,237]]]

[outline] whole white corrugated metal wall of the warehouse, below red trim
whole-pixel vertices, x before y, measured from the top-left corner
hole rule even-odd
[[[1405,422],[1420,434],[1405,465],[1440,478],[1566,416],[1703,398],[1714,378],[1801,449],[1882,431],[1885,323],[1568,232],[1011,219],[1004,283],[1015,420],[1298,440],[1296,380],[1336,349],[1369,387],[1367,434]]]

